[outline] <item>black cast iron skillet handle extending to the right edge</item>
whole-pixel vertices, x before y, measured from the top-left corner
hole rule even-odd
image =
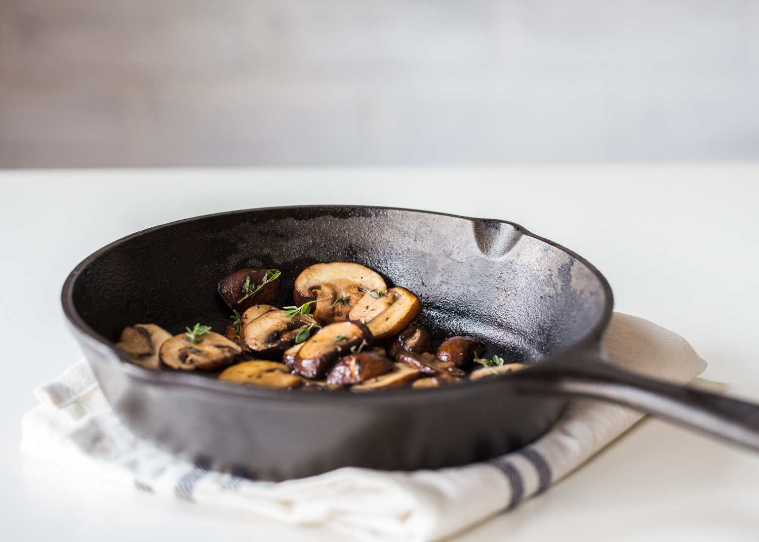
[[[602,399],[759,451],[759,405],[628,373],[599,353],[512,378],[526,391]]]

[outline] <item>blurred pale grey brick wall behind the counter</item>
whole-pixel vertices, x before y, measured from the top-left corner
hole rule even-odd
[[[757,158],[757,0],[0,0],[0,167]]]

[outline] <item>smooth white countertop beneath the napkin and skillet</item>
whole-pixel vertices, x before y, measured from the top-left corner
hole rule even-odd
[[[616,310],[678,332],[704,377],[759,402],[759,163],[498,169],[0,172],[4,540],[347,540],[320,528],[75,476],[18,452],[30,390],[80,358],[58,301],[71,269],[153,225],[263,206],[398,206],[518,222],[594,263]],[[37,351],[44,344],[46,351]],[[647,420],[548,492],[456,542],[759,537],[759,454]]]

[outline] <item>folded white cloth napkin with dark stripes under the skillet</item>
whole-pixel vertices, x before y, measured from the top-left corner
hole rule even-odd
[[[688,383],[705,368],[685,339],[615,313],[603,341],[614,363]],[[586,399],[529,446],[490,462],[439,471],[340,468],[281,483],[206,471],[134,436],[115,416],[87,361],[34,390],[24,415],[25,454],[88,476],[196,503],[320,524],[362,540],[425,542],[450,536],[540,493],[628,430],[642,414]]]

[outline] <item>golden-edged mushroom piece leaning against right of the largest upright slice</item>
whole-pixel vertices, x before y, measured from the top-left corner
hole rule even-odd
[[[367,291],[349,314],[351,320],[367,324],[374,340],[383,341],[397,334],[422,311],[422,304],[411,291],[396,286],[375,298]]]

